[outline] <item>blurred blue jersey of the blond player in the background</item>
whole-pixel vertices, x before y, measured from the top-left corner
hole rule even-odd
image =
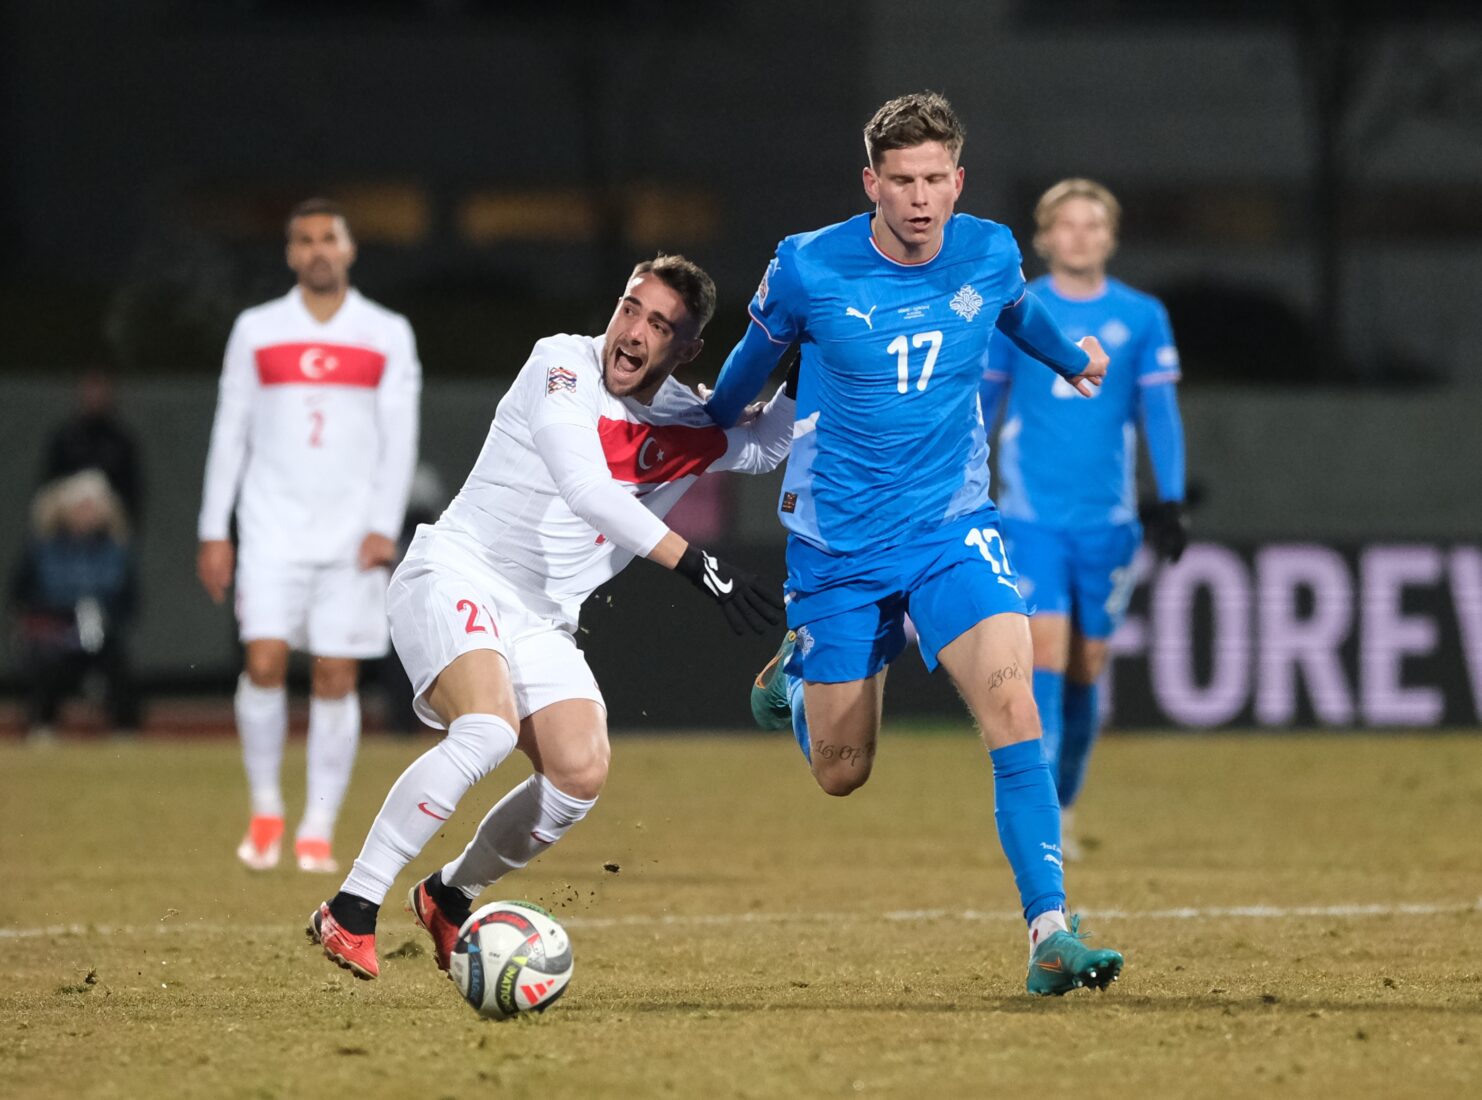
[[[993,339],[984,391],[1009,384],[999,431],[999,510],[1063,531],[1129,523],[1137,519],[1143,387],[1178,380],[1168,313],[1152,295],[1116,279],[1107,279],[1106,292],[1089,299],[1063,298],[1048,277],[1036,279],[1030,291],[1067,337],[1100,339],[1112,366],[1088,399],[1002,334]],[[984,409],[990,420],[993,414]]]

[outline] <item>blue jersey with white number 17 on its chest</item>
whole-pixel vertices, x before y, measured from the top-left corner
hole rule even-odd
[[[772,345],[802,351],[782,525],[834,556],[907,544],[988,504],[978,381],[999,313],[1024,294],[1003,225],[953,215],[932,259],[903,264],[876,246],[870,216],[782,240],[750,308]],[[728,363],[713,406],[732,403],[747,369]]]

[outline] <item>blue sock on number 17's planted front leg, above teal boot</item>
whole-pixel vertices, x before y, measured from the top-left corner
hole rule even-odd
[[[993,820],[999,826],[999,844],[1014,869],[1024,919],[1033,921],[1051,909],[1066,907],[1055,780],[1037,740],[1006,744],[988,756],[993,758]]]

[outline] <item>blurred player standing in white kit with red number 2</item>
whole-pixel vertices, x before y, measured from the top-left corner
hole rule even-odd
[[[293,851],[335,872],[335,818],[360,740],[356,676],[387,651],[387,566],[416,461],[422,372],[412,328],[350,285],[338,206],[288,221],[298,285],[231,329],[200,507],[200,583],[221,603],[236,574],[246,670],[236,716],[252,798],[237,857],[277,866],[289,649],[313,655],[308,792]],[[233,507],[240,554],[228,541]]]

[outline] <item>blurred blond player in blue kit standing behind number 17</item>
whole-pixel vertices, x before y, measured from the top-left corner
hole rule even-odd
[[[1067,858],[1079,857],[1071,806],[1100,726],[1097,680],[1107,640],[1132,592],[1137,520],[1137,425],[1157,480],[1149,541],[1177,562],[1183,520],[1184,434],[1178,418],[1178,350],[1162,304],[1107,277],[1122,208],[1089,179],[1063,179],[1034,208],[1034,249],[1049,274],[1030,283],[1071,338],[1097,337],[1117,369],[1094,400],[994,337],[983,375],[983,418],[999,433],[1003,537],[1029,602],[1034,701],[1045,756],[1060,792]]]

